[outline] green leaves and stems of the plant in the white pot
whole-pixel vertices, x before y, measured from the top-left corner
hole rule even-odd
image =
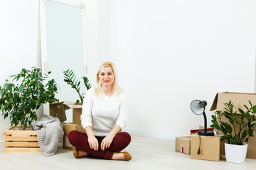
[[[253,137],[253,132],[256,131],[256,106],[252,106],[250,101],[249,103],[250,107],[244,105],[245,111],[238,108],[238,113],[234,111],[233,103],[229,101],[229,103],[224,103],[224,111],[215,111],[212,115],[213,125],[210,127],[223,132],[222,141],[228,140],[228,144],[243,145],[250,137]]]

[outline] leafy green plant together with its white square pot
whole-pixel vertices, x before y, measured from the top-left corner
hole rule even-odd
[[[238,113],[238,111],[234,111],[232,101],[229,101],[229,103],[224,103],[224,111],[215,111],[215,114],[212,115],[213,125],[210,127],[223,132],[221,140],[227,140],[225,142],[227,162],[238,164],[245,162],[247,142],[256,131],[256,106],[252,106],[250,101],[249,103],[249,108],[244,105],[246,111],[238,108]]]

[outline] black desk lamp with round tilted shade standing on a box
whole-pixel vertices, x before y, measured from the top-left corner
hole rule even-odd
[[[204,127],[204,130],[198,131],[198,135],[214,136],[213,131],[207,130],[207,120],[206,120],[206,113],[205,113],[206,105],[207,105],[206,101],[194,100],[191,102],[191,111],[193,111],[193,113],[195,113],[196,115],[201,115],[203,113],[205,127]]]

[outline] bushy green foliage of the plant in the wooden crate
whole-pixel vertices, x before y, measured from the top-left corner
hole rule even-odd
[[[11,77],[14,77],[11,82],[6,79],[4,86],[0,86],[0,109],[4,119],[10,118],[11,125],[20,123],[25,130],[32,120],[37,120],[36,110],[42,103],[58,101],[55,98],[57,84],[51,79],[44,86],[42,81],[48,76],[36,67],[22,69]],[[13,81],[20,84],[14,84]]]

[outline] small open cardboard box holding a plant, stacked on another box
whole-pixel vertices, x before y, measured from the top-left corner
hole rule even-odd
[[[65,101],[64,104],[69,105],[73,109],[73,124],[81,125],[82,105],[72,101]]]

